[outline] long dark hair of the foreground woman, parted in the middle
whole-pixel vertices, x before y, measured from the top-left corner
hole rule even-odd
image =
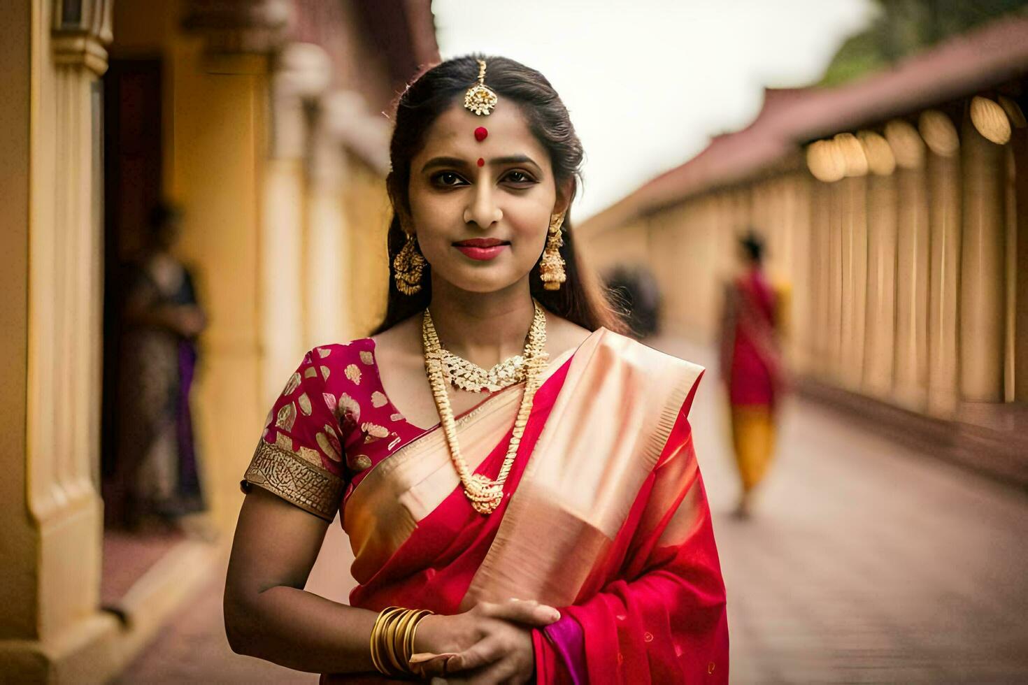
[[[410,214],[407,191],[411,159],[425,145],[425,136],[432,123],[461,101],[465,91],[478,79],[477,60],[485,60],[488,65],[485,84],[499,96],[500,102],[516,103],[519,106],[529,130],[549,152],[558,191],[571,182],[568,202],[575,196],[584,156],[582,142],[575,134],[567,109],[545,76],[514,60],[480,54],[447,60],[421,73],[397,102],[396,126],[390,143],[392,170],[386,180],[393,203],[388,239],[389,302],[386,317],[374,333],[381,333],[416,314],[432,301],[429,265],[425,267],[421,290],[417,294],[403,295],[396,288],[393,259],[406,241],[400,215]],[[605,298],[599,278],[583,265],[581,256],[575,252],[571,221],[566,216],[562,237],[564,244],[560,249],[560,255],[565,262],[567,280],[561,284],[560,290],[544,290],[537,262],[529,278],[533,297],[553,313],[590,331],[602,326],[618,333],[624,332],[625,326]]]

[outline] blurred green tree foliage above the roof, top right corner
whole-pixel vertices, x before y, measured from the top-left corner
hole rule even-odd
[[[950,36],[1003,14],[1026,12],[1028,0],[877,0],[871,25],[836,52],[820,85],[880,71]]]

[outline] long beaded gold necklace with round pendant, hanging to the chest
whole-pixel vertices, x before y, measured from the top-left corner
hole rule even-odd
[[[514,457],[517,456],[517,448],[521,444],[524,427],[528,424],[531,401],[536,395],[536,390],[539,389],[542,371],[546,366],[548,356],[545,351],[546,314],[538,302],[534,300],[533,304],[536,311],[531,319],[531,328],[528,330],[528,342],[525,344],[524,351],[524,394],[521,395],[517,418],[514,420],[514,430],[511,433],[511,442],[507,446],[507,455],[500,467],[500,474],[494,481],[482,473],[472,473],[468,462],[461,454],[461,446],[456,442],[456,421],[453,418],[453,409],[450,407],[449,395],[446,391],[446,379],[443,376],[443,349],[439,344],[439,336],[436,334],[436,327],[432,322],[432,314],[429,313],[428,309],[425,310],[425,317],[421,319],[425,372],[429,377],[429,384],[432,386],[432,396],[435,397],[436,409],[439,411],[439,421],[449,447],[450,460],[453,462],[457,475],[461,477],[464,494],[471,500],[472,507],[479,513],[491,513],[503,501],[504,484],[507,482],[511,466],[514,464]]]

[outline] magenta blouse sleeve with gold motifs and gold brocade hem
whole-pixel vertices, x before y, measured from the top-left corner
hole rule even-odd
[[[268,413],[241,487],[256,486],[317,517],[332,521],[346,485],[328,368],[307,352]]]

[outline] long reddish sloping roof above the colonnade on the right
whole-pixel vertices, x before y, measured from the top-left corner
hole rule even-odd
[[[765,90],[742,130],[715,137],[698,155],[582,224],[614,228],[691,195],[767,168],[809,140],[907,114],[1028,72],[1028,17],[1006,18],[834,88]]]

